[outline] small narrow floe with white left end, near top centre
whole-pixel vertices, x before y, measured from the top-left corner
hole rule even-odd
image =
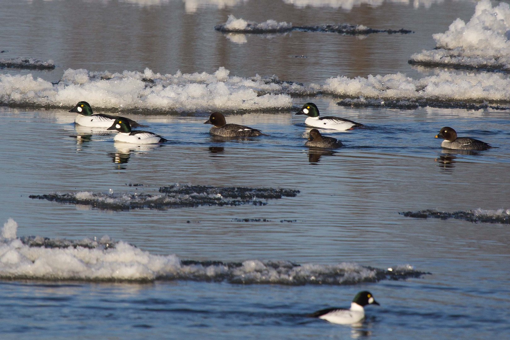
[[[377,30],[371,29],[364,25],[351,25],[348,23],[341,24],[322,24],[318,26],[292,26],[292,23],[285,21],[277,22],[275,20],[267,20],[261,23],[254,21],[247,21],[244,19],[236,19],[235,16],[229,15],[225,23],[216,25],[216,31],[228,33],[252,33],[252,34],[267,34],[267,33],[285,33],[289,31],[301,32],[330,32],[351,35],[363,35],[371,33],[412,33],[409,30]]]

